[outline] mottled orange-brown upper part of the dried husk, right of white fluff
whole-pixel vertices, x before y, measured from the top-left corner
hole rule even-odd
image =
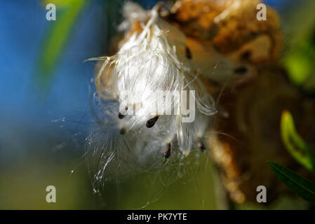
[[[257,0],[177,1],[171,18],[187,36],[210,41],[218,52],[231,59],[235,60],[237,55],[238,61],[272,62],[281,52],[280,20],[276,11],[267,8],[267,20],[258,21],[258,3]]]

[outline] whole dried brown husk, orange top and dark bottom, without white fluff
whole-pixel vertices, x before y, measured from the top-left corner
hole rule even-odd
[[[239,75],[221,80],[231,84],[225,85],[224,92],[220,92],[223,85],[216,88],[211,80],[206,86],[211,94],[220,97],[219,113],[209,132],[223,133],[211,134],[206,145],[220,167],[229,197],[237,203],[255,202],[255,189],[260,185],[267,187],[269,203],[280,193],[289,193],[268,169],[267,160],[308,176],[283,147],[279,125],[284,109],[293,111],[297,122],[308,124],[301,126],[300,133],[308,136],[309,141],[311,133],[314,136],[311,125],[314,122],[310,122],[312,118],[307,113],[314,111],[314,102],[302,98],[278,64],[282,45],[279,17],[272,8],[267,8],[267,20],[258,21],[258,3],[177,1],[168,16],[187,38],[201,46],[192,48],[193,58],[203,55],[210,45],[233,64]],[[199,64],[200,68],[203,66]]]

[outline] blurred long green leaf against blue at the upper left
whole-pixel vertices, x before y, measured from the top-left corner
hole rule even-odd
[[[48,84],[53,77],[53,71],[58,64],[62,50],[65,48],[71,28],[86,0],[67,0],[65,3],[67,4],[62,6],[57,4],[57,11],[60,10],[60,13],[55,21],[51,21],[51,27],[39,52],[36,77],[41,85]]]

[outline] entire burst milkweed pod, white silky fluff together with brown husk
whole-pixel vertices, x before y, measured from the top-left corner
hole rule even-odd
[[[277,64],[279,17],[267,8],[267,20],[258,21],[258,3],[183,0],[170,10],[126,3],[117,52],[94,58],[99,125],[88,138],[88,165],[95,190],[111,176],[171,172],[198,148],[210,150],[234,202],[253,202],[260,185],[268,202],[286,192],[266,160],[297,171],[282,146],[279,117],[290,109],[303,120],[306,110]],[[214,122],[211,96],[219,102]],[[184,122],[192,115],[187,104],[196,108],[192,122]]]

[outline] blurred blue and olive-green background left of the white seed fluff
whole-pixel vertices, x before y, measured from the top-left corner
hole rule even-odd
[[[138,2],[144,7],[156,3]],[[294,1],[265,2],[285,17]],[[55,69],[49,78],[42,79],[38,63],[55,23],[46,20],[46,1],[0,1],[0,209],[202,207],[196,199],[198,193],[191,190],[194,183],[177,183],[152,204],[147,204],[150,200],[142,198],[131,182],[126,188],[133,195],[117,193],[119,199],[110,196],[114,187],[108,188],[106,202],[92,193],[82,156],[84,139],[93,123],[88,86],[95,64],[83,60],[104,55],[109,49],[109,37],[121,22],[122,5],[123,1],[84,3],[70,26]],[[58,10],[57,21],[62,12]],[[206,209],[217,208],[215,177],[211,175],[208,169],[200,174],[201,179],[209,179],[200,187]],[[48,185],[56,186],[58,203],[46,203]]]

